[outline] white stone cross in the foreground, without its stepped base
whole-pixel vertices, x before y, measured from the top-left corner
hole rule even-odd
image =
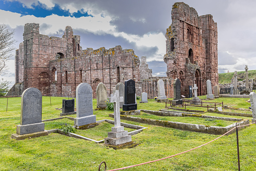
[[[119,91],[116,90],[114,96],[110,99],[110,103],[114,103],[114,123],[115,127],[120,127],[120,102],[124,101],[124,97],[119,97]]]

